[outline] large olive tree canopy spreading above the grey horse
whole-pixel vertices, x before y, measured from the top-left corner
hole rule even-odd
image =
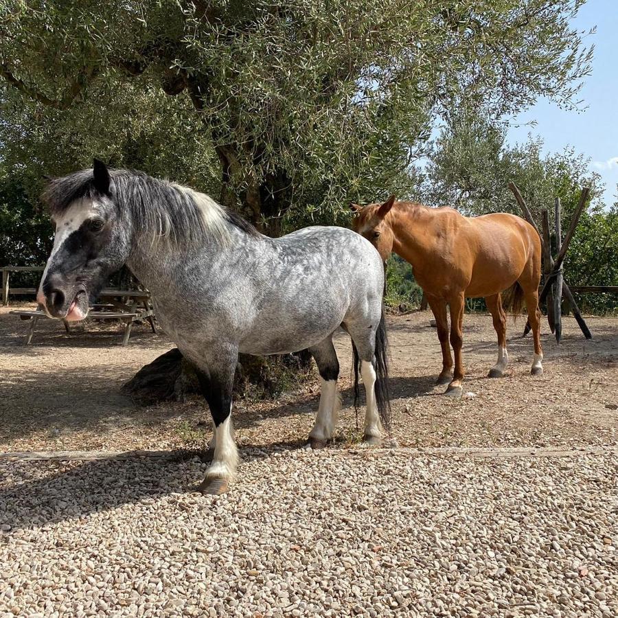
[[[7,0],[3,117],[23,152],[47,134],[48,173],[98,155],[185,181],[195,154],[218,181],[198,187],[276,234],[409,190],[411,157],[462,102],[571,104],[591,58],[569,26],[582,3]]]

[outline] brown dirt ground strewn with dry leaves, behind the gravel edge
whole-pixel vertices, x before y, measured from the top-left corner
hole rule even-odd
[[[136,326],[128,347],[119,325],[76,327],[41,321],[32,345],[27,322],[0,308],[0,450],[201,448],[209,437],[203,400],[136,407],[119,394],[135,372],[173,347],[164,334]],[[531,338],[524,319],[510,321],[507,376],[487,378],[496,361],[489,315],[464,320],[464,397],[441,395],[441,368],[431,314],[389,317],[393,437],[400,446],[569,446],[618,444],[618,319],[588,317],[593,339],[564,319],[560,346],[543,323],[545,373],[529,375]],[[350,340],[336,336],[344,409],[336,442],[356,442],[350,389]],[[314,422],[318,380],[270,402],[240,401],[236,438],[251,447],[302,446]],[[364,409],[359,411],[362,426]]]

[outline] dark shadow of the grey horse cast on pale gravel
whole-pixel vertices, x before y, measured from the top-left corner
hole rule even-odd
[[[240,448],[239,474],[243,464],[302,446],[293,441]],[[221,498],[198,492],[207,461],[207,450],[189,449],[137,451],[80,463],[0,459],[0,524],[10,525],[11,532],[28,530],[171,494],[193,493],[205,508],[218,499],[233,501],[233,492],[243,491],[236,489],[238,481]]]

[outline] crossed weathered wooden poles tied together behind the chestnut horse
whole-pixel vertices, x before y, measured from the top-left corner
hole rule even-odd
[[[521,196],[521,193],[517,187],[517,185],[513,182],[509,183],[509,188],[510,190],[513,192],[515,199],[519,205],[519,207],[521,208],[522,212],[523,212],[523,216],[525,218],[525,220],[527,220],[527,222],[529,222],[529,224],[534,227],[534,229],[536,229],[536,233],[538,233],[538,236],[541,239],[541,244],[545,245],[545,242],[543,240],[543,236],[541,235],[541,233],[538,230],[538,227],[536,226],[536,223],[534,222],[534,219],[532,218],[532,215],[524,201],[524,198]],[[569,249],[569,242],[571,242],[571,238],[573,237],[573,233],[575,233],[575,227],[577,227],[577,222],[579,222],[580,220],[580,216],[582,214],[582,211],[584,209],[584,205],[586,204],[586,200],[588,199],[588,194],[590,193],[590,187],[584,187],[584,189],[582,190],[582,194],[580,196],[580,202],[577,204],[577,209],[575,210],[575,214],[573,215],[573,219],[571,220],[571,225],[569,226],[569,232],[567,233],[567,236],[565,236],[564,238],[564,242],[561,242],[562,238],[561,238],[561,233],[558,228],[560,227],[560,225],[557,226],[558,229],[558,234],[557,236],[560,237],[560,240],[558,240],[558,242],[560,242],[560,245],[558,246],[558,255],[556,255],[556,262],[553,261],[553,258],[551,257],[551,252],[549,253],[549,266],[550,266],[550,275],[549,277],[546,278],[545,280],[545,284],[543,285],[543,288],[541,290],[541,293],[539,295],[539,299],[538,302],[539,304],[541,304],[543,301],[545,301],[545,299],[547,298],[547,295],[549,294],[549,292],[551,291],[551,283],[553,282],[554,277],[558,278],[558,274],[560,273],[560,279],[562,279],[562,295],[564,295],[564,298],[568,301],[569,305],[571,305],[571,310],[573,311],[573,316],[575,317],[575,320],[577,321],[577,324],[580,326],[580,328],[582,329],[582,332],[584,333],[584,336],[586,337],[586,339],[592,339],[592,333],[590,332],[590,329],[588,328],[588,325],[586,324],[586,321],[584,320],[584,318],[582,317],[582,312],[580,312],[580,308],[577,306],[577,303],[575,302],[575,298],[573,297],[573,293],[571,292],[571,289],[569,288],[569,286],[567,285],[567,282],[564,281],[564,276],[562,275],[562,260],[564,260],[564,256],[567,255],[567,249]],[[558,204],[556,204],[556,207],[559,208]],[[547,212],[547,211],[546,211]],[[547,232],[548,232],[548,237],[549,237],[549,217],[547,220]],[[545,258],[545,253],[547,253],[546,251],[543,252],[544,253],[544,258]],[[558,262],[558,258],[560,258],[560,262]],[[543,260],[543,264],[544,264],[544,271],[545,271],[545,259]],[[556,266],[556,264],[558,264],[558,266]],[[596,289],[596,288],[591,288],[591,289]],[[605,289],[605,288],[603,288]],[[609,288],[608,288],[609,289]],[[612,290],[610,290],[612,291]],[[557,301],[558,303],[560,302],[560,296],[556,295],[557,297]],[[548,307],[548,321],[549,321],[549,307],[552,306],[553,307],[553,312],[556,313],[556,306],[553,303],[548,303],[547,307]],[[562,336],[562,315],[560,313],[560,336]],[[555,324],[555,323],[554,323]],[[550,328],[551,328],[551,323],[550,323]],[[526,322],[526,326],[523,332],[523,336],[526,336],[528,333],[530,332],[530,323],[529,321]],[[557,335],[558,336],[558,335]]]

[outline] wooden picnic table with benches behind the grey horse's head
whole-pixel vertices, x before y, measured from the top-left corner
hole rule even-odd
[[[36,291],[36,290],[35,290]],[[88,317],[97,320],[119,320],[124,323],[122,345],[127,345],[133,323],[147,320],[152,332],[157,332],[155,327],[155,311],[150,304],[150,292],[148,290],[119,290],[106,288],[99,295],[99,300],[105,302],[95,303],[88,312]],[[30,326],[25,336],[25,345],[32,341],[32,335],[39,319],[48,319],[47,314],[40,308],[36,310],[16,309],[11,314],[18,315],[22,320],[29,320]],[[69,322],[62,320],[65,330],[69,331]]]

